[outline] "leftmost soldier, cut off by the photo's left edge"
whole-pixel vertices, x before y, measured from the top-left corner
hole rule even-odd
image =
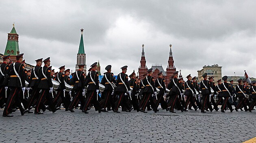
[[[7,63],[10,62],[10,55],[3,57],[3,63],[0,65],[0,108],[5,106],[7,100],[7,76],[8,76],[8,68],[9,65]]]

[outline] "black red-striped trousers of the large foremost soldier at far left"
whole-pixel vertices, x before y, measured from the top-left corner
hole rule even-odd
[[[21,102],[20,102],[20,93],[22,92],[21,88],[18,87],[11,87],[11,92],[10,92],[10,96],[7,99],[7,104],[4,107],[4,112],[3,115],[7,115],[10,113],[10,109],[13,106],[14,102],[16,103],[16,105],[18,105],[19,109],[20,109],[20,113],[24,112],[25,109],[22,107]]]

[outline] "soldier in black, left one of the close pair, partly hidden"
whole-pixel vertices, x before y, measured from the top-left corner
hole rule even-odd
[[[43,58],[35,60],[37,62],[37,65],[33,69],[31,69],[31,76],[28,88],[32,88],[32,92],[30,94],[30,97],[28,98],[28,109],[32,109],[33,105],[36,104],[36,101],[39,98],[39,89],[37,87],[40,82],[39,72],[41,72],[42,70],[42,60]]]

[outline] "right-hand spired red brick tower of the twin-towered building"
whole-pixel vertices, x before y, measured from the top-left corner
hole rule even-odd
[[[176,71],[176,67],[174,66],[174,58],[172,57],[172,51],[171,51],[171,44],[169,45],[170,46],[170,53],[169,53],[169,60],[168,60],[168,66],[166,68],[166,74],[167,74],[167,77],[165,79],[165,81],[167,83],[169,83],[169,79],[171,77],[171,75],[174,73],[174,71]]]

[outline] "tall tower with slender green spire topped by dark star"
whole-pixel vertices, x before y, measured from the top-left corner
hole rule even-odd
[[[84,31],[84,29],[80,29],[80,30],[81,30],[81,38],[80,38],[78,53],[77,53],[77,56],[76,56],[76,70],[78,70],[78,65],[79,64],[85,64],[85,61],[86,61],[84,40],[82,38],[82,32]],[[85,72],[86,72],[86,64],[85,64]]]

